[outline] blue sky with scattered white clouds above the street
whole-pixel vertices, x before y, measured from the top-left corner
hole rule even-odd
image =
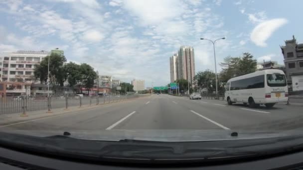
[[[64,50],[100,75],[167,85],[169,57],[193,46],[195,71],[251,53],[283,63],[280,45],[303,43],[303,0],[0,0],[0,52]]]

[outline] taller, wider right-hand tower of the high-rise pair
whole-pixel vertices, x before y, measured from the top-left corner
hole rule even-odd
[[[188,80],[191,85],[193,85],[193,79],[195,76],[195,60],[193,47],[180,47],[178,53],[176,54],[176,75],[177,80],[185,79]]]

